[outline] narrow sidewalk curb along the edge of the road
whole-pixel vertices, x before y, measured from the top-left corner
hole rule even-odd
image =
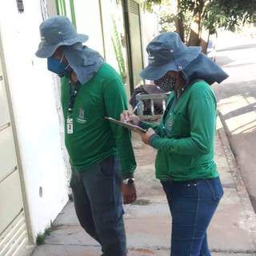
[[[254,212],[254,208],[250,202],[250,197],[248,191],[246,190],[246,186],[242,180],[242,175],[239,170],[238,163],[234,157],[233,150],[230,146],[230,140],[228,138],[228,134],[226,133],[226,124],[222,121],[222,114],[218,113],[218,118],[222,124],[222,127],[218,129],[218,135],[222,142],[223,150],[226,154],[226,159],[229,165],[229,171],[234,178],[235,189],[238,192],[238,197],[241,199],[242,205],[246,211],[246,221],[248,222],[248,229],[250,230],[251,242],[254,246],[254,253],[256,252],[256,214]]]

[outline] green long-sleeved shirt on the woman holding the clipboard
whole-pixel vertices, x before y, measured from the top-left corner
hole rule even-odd
[[[174,104],[175,103],[175,104]],[[214,162],[216,99],[210,86],[200,80],[186,88],[175,102],[170,94],[159,126],[150,145],[158,150],[156,176],[162,181],[187,181],[218,177]]]

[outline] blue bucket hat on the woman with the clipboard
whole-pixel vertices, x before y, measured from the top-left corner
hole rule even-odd
[[[147,80],[158,80],[170,70],[184,70],[201,50],[198,46],[186,46],[175,32],[159,34],[146,47],[149,65],[140,76]]]

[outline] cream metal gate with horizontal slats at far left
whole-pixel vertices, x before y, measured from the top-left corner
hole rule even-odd
[[[0,256],[20,256],[28,234],[1,58],[0,55]]]

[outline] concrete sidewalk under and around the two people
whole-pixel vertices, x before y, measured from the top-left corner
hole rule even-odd
[[[170,255],[170,213],[162,187],[154,178],[156,152],[138,138],[134,138],[134,150],[138,159],[138,201],[126,206],[129,256],[167,256]],[[256,255],[255,214],[220,122],[216,136],[216,160],[225,196],[210,225],[210,249],[214,256]],[[78,225],[73,203],[69,202],[54,222],[46,244],[38,246],[33,256],[100,254],[99,245]]]

